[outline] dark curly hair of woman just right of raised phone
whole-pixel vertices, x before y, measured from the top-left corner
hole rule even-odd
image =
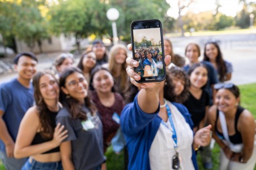
[[[175,95],[175,85],[173,83],[173,78],[177,78],[179,80],[184,81],[184,90],[181,92],[180,95]],[[185,71],[181,68],[171,68],[166,70],[166,83],[164,86],[164,97],[166,100],[171,102],[178,102],[183,104],[186,99],[189,97],[189,78],[186,75]]]

